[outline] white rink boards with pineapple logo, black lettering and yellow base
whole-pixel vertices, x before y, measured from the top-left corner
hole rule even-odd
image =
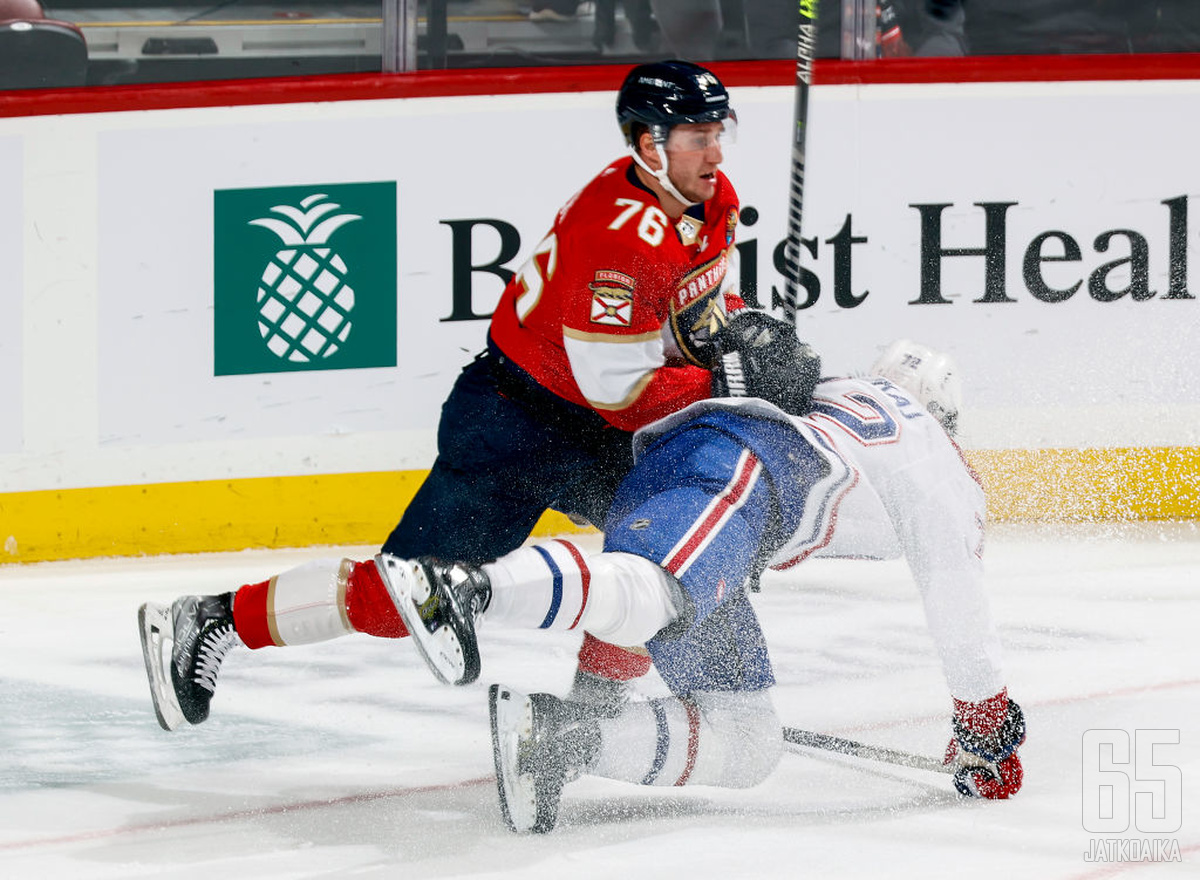
[[[792,96],[728,70],[766,306]],[[613,79],[0,119],[0,559],[382,540],[504,279],[620,154]],[[1195,519],[1198,110],[1189,78],[821,85],[802,335],[830,373],[949,351],[996,519]],[[271,347],[283,251],[328,261],[307,347]]]

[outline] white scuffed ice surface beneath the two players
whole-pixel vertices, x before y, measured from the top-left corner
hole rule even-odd
[[[0,878],[1200,876],[1195,523],[992,531],[992,607],[1030,730],[1010,802],[791,749],[745,791],[582,779],[536,838],[500,821],[486,683],[564,692],[577,636],[485,629],[484,675],[461,689],[404,641],[239,649],[206,724],[155,722],[138,604],[372,551],[0,567]],[[755,601],[787,724],[941,754],[948,696],[902,563],[805,563]],[[1085,861],[1106,839],[1081,820],[1090,729],[1180,731],[1156,760],[1181,768],[1182,827],[1126,836],[1174,840],[1182,862]]]

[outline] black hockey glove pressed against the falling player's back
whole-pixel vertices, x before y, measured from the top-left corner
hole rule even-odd
[[[762,397],[793,415],[812,406],[821,358],[786,321],[766,312],[738,312],[715,342],[721,357],[713,370],[714,397]]]

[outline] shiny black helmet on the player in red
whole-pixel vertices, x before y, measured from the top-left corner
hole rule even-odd
[[[691,61],[640,64],[617,94],[617,122],[630,146],[636,122],[662,143],[673,125],[719,122],[730,116],[736,119],[721,80]]]

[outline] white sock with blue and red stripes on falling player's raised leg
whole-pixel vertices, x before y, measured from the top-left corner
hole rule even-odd
[[[677,616],[666,573],[630,553],[589,553],[568,540],[520,547],[484,565],[487,619],[509,627],[582,628],[642,645]]]

